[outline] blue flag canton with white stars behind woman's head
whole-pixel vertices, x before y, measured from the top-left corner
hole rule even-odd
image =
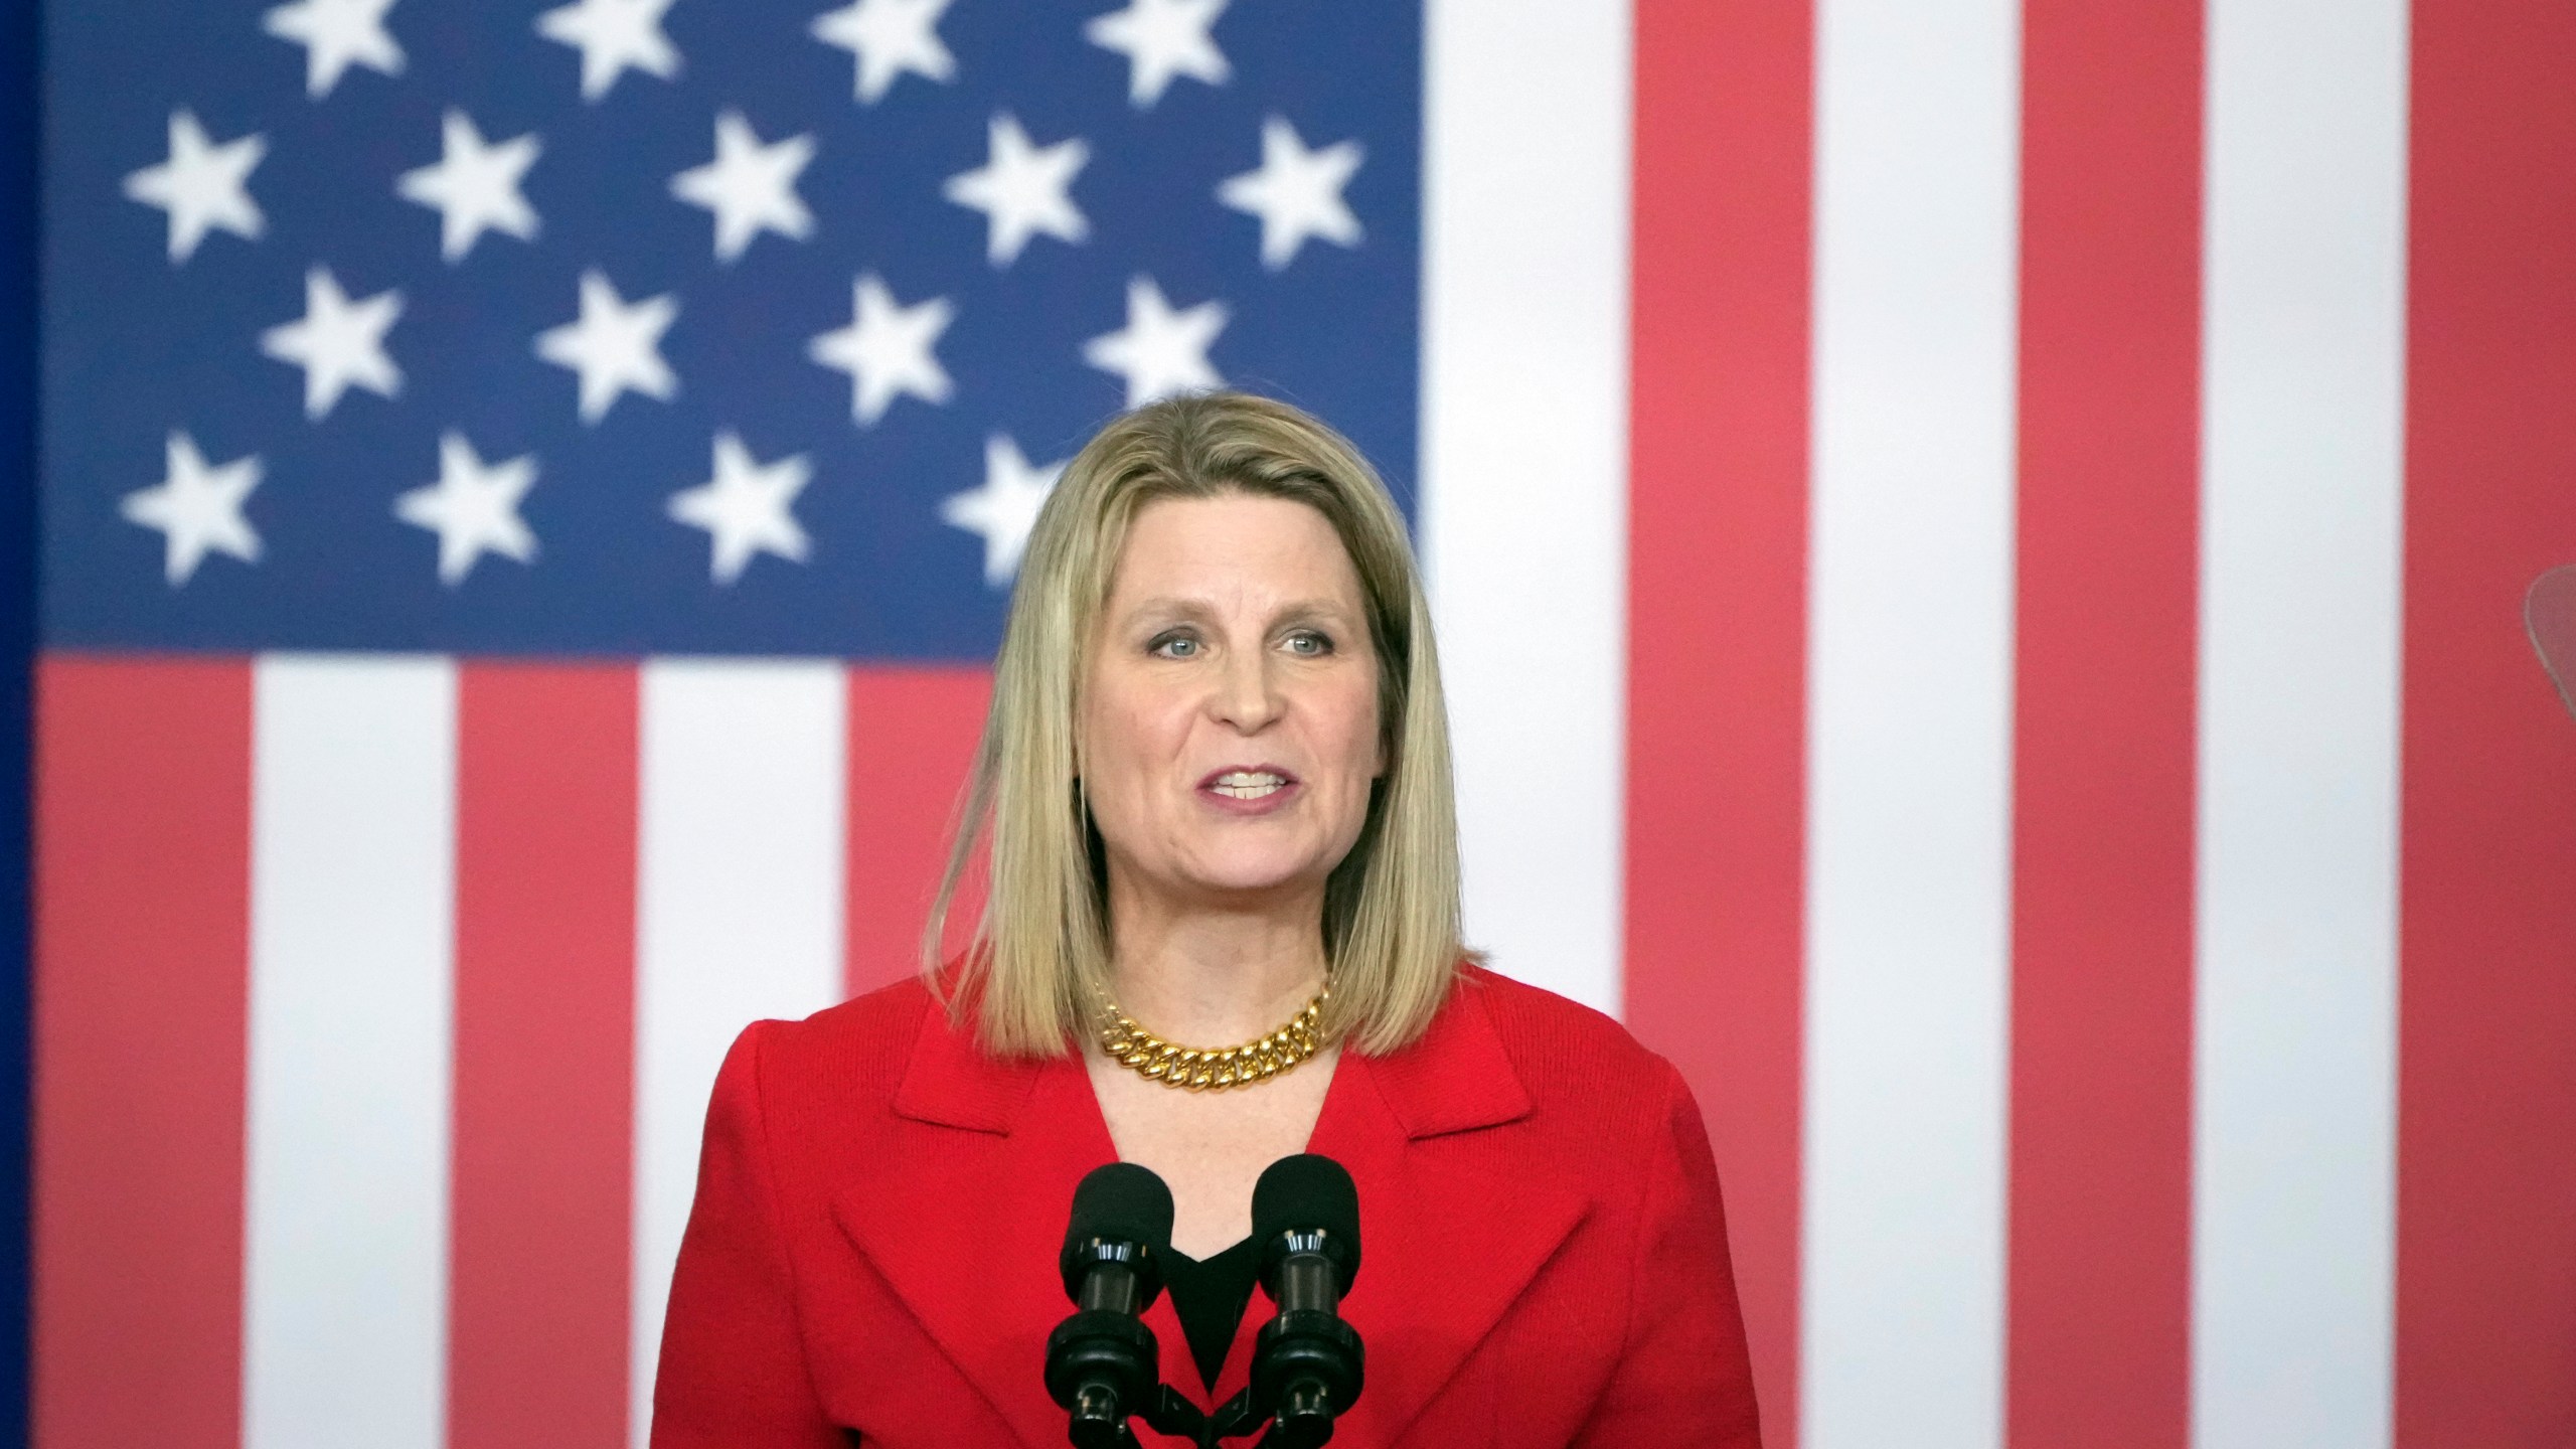
[[[1422,13],[49,5],[44,634],[984,657],[1151,394],[1412,508]]]

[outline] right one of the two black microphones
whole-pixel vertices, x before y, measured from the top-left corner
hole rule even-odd
[[[1342,1323],[1360,1274],[1360,1189],[1332,1158],[1280,1158],[1252,1186],[1252,1240],[1278,1305],[1252,1348],[1252,1405],[1275,1415],[1262,1444],[1314,1449],[1360,1397],[1360,1333]]]

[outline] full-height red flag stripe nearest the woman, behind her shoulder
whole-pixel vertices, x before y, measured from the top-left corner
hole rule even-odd
[[[1765,1439],[1798,1431],[1811,13],[1638,0],[1625,1016],[1726,1181]]]

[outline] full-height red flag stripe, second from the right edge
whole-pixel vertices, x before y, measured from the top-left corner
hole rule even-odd
[[[2007,1439],[2182,1449],[2200,8],[2022,26]]]

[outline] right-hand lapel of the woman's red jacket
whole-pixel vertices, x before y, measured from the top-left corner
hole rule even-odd
[[[1360,1186],[1360,1276],[1342,1299],[1368,1346],[1342,1418],[1352,1444],[1396,1444],[1589,1209],[1530,1160],[1515,1129],[1530,1111],[1473,977],[1412,1049],[1337,1067],[1311,1150]],[[1244,1328],[1267,1318],[1255,1294]]]

